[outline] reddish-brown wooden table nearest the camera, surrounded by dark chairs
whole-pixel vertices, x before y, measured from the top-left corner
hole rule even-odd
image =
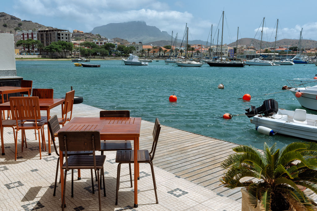
[[[59,131],[100,131],[100,140],[133,140],[134,145],[134,207],[138,207],[138,178],[139,165],[137,149],[139,149],[139,137],[141,118],[109,118],[109,117],[75,117]],[[57,131],[54,136],[58,137]],[[60,169],[63,166],[63,153],[60,151]],[[60,171],[61,193],[63,194],[64,177]],[[61,196],[63,197],[63,196]]]

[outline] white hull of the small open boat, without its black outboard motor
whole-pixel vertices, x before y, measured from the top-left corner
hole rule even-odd
[[[263,126],[288,136],[317,141],[317,115],[307,114],[306,110],[293,111],[279,109],[272,116],[256,115],[250,119],[256,127]]]

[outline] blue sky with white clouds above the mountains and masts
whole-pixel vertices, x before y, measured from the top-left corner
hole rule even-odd
[[[185,25],[189,40],[210,41],[217,38],[224,10],[223,43],[239,39],[275,40],[276,20],[279,19],[277,39],[298,39],[303,27],[303,39],[317,40],[317,0],[0,0],[0,12],[60,29],[90,32],[94,27],[108,23],[146,21],[171,35],[182,37]],[[219,25],[218,25],[219,24]],[[258,30],[260,28],[260,30]],[[257,32],[258,31],[258,32]],[[257,33],[256,33],[257,32]],[[111,38],[110,38],[111,39]],[[138,40],[129,40],[138,41]],[[216,42],[216,41],[215,41]]]

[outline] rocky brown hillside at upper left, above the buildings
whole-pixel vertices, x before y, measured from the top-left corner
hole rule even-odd
[[[37,31],[40,29],[52,29],[53,27],[46,27],[42,24],[32,21],[23,21],[13,15],[9,15],[4,12],[0,12],[0,30],[5,32],[15,32],[15,28],[19,27],[21,30]]]

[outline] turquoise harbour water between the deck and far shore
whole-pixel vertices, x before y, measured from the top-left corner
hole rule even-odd
[[[302,108],[290,92],[252,98],[242,96],[282,91],[286,79],[313,78],[314,64],[293,66],[246,66],[219,68],[178,67],[164,61],[148,66],[121,65],[121,61],[91,61],[100,68],[75,67],[70,61],[16,61],[17,75],[33,80],[33,88],[53,88],[54,97],[65,96],[74,87],[84,104],[106,110],[130,110],[130,115],[190,132],[238,144],[263,148],[263,143],[279,147],[299,139],[288,136],[266,136],[255,130],[246,116],[223,119],[224,113],[244,114],[251,105],[262,105],[274,98],[287,110]],[[224,89],[217,85],[223,83]],[[168,98],[175,92],[177,102]],[[317,114],[307,109],[308,113]],[[172,134],[171,134],[172,136]]]

